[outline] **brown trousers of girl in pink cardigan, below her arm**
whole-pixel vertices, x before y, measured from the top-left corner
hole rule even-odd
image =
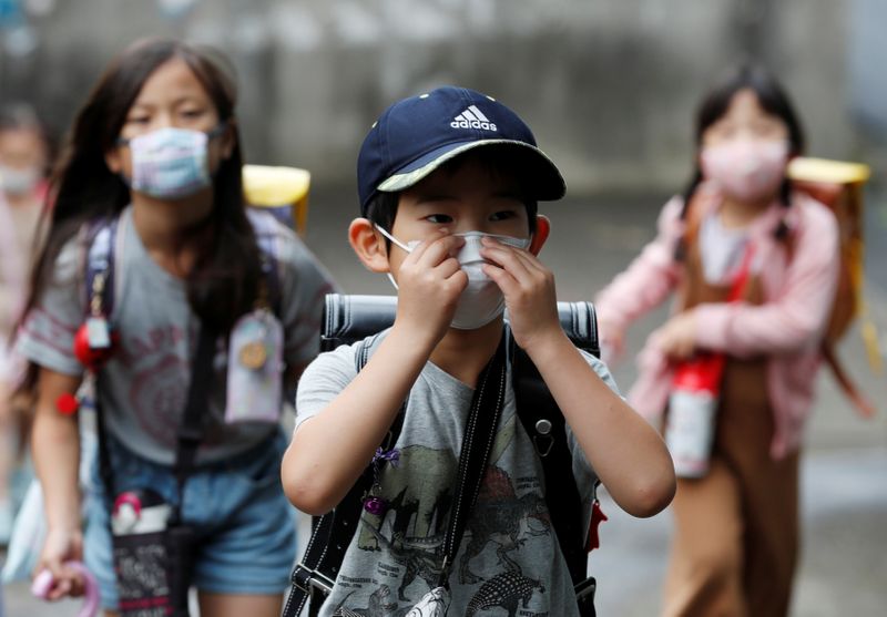
[[[763,361],[731,360],[708,474],[679,480],[666,617],[785,617],[798,553],[798,453],[769,456]]]

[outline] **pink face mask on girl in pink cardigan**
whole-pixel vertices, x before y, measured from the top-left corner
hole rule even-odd
[[[740,202],[759,202],[776,194],[785,178],[788,143],[735,140],[705,146],[700,154],[702,175]]]

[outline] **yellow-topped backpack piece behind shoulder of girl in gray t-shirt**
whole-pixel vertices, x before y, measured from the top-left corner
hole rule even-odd
[[[267,208],[299,235],[308,223],[308,189],[312,175],[298,167],[244,165],[243,191],[246,202]]]

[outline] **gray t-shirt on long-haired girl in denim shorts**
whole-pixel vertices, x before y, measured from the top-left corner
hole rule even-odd
[[[277,223],[271,228],[279,271],[283,359],[289,367],[305,366],[319,351],[324,296],[334,285],[292,230]],[[71,376],[83,372],[72,349],[85,315],[84,256],[85,246],[77,237],[62,248],[53,278],[18,339],[22,356]],[[131,208],[120,216],[114,264],[111,321],[120,333],[120,346],[101,372],[99,395],[105,425],[135,454],[172,464],[200,321],[187,302],[184,281],[161,268],[145,250]],[[206,436],[197,452],[201,463],[245,452],[276,430],[273,423],[225,423],[224,343],[220,338]]]

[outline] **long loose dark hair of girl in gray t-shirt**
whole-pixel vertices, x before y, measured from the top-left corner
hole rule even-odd
[[[64,244],[85,223],[118,216],[130,203],[130,191],[105,164],[105,153],[114,147],[145,81],[173,59],[184,61],[194,72],[234,138],[231,156],[220,163],[214,175],[208,220],[177,238],[181,243],[198,243],[195,265],[186,280],[188,302],[202,323],[222,333],[249,310],[258,292],[261,258],[244,209],[243,157],[234,122],[236,86],[217,58],[221,59],[208,49],[177,40],[147,39],[126,49],[99,79],[74,120],[51,177],[49,232],[31,275],[22,320],[51,280]],[[211,233],[204,233],[207,227]],[[30,384],[34,372],[32,367],[27,379]]]

